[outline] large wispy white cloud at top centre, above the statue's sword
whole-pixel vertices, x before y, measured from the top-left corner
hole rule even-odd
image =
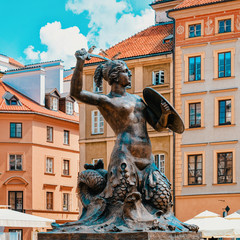
[[[75,14],[88,12],[90,45],[106,49],[154,24],[154,11],[146,9],[140,15],[130,13],[126,1],[68,0],[66,10]]]

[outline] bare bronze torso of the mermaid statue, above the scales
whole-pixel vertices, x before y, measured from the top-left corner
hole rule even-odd
[[[152,147],[146,127],[146,107],[139,96],[127,94],[112,98],[110,106],[99,108],[117,135],[110,166],[115,165],[118,156],[122,155],[139,170],[151,163]]]

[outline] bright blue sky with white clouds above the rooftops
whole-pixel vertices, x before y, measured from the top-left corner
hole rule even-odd
[[[154,24],[152,0],[1,0],[0,53],[28,64],[106,49]]]

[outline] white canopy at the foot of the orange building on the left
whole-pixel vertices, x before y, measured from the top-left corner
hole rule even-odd
[[[55,220],[10,209],[0,209],[0,226],[3,227],[51,227],[52,222],[55,222]]]

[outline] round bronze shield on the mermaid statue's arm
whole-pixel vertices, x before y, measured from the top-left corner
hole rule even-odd
[[[162,104],[166,103],[171,110],[171,114],[168,116],[167,127],[176,133],[184,132],[185,127],[181,117],[178,115],[174,107],[160,93],[147,87],[143,90],[143,97],[147,105],[158,118],[162,115]]]

